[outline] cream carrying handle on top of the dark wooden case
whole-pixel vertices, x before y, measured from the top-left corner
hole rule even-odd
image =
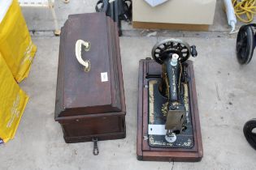
[[[77,61],[84,66],[85,72],[89,72],[91,69],[89,60],[83,60],[82,58],[82,46],[85,46],[85,51],[89,51],[90,44],[85,40],[76,40],[76,59]]]

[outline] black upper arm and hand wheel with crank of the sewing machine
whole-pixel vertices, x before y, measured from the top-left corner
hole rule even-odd
[[[176,65],[172,65],[173,56],[177,55]],[[152,49],[152,57],[155,62],[163,65],[163,83],[161,84],[160,91],[163,96],[169,99],[169,108],[173,109],[173,104],[179,102],[182,104],[180,97],[180,79],[183,69],[180,63],[188,60],[190,54],[193,57],[197,56],[197,49],[195,45],[191,47],[183,40],[167,39],[154,45]],[[169,88],[169,89],[167,89]],[[168,95],[168,96],[167,96]]]

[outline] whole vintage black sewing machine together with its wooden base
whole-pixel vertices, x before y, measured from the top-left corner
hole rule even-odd
[[[193,75],[196,46],[167,39],[140,61],[137,158],[199,161],[202,138]]]

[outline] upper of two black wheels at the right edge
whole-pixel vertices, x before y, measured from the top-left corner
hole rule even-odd
[[[241,65],[248,64],[254,54],[254,31],[249,26],[240,28],[236,38],[236,57]]]

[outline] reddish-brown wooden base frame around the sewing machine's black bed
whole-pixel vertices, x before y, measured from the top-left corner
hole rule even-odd
[[[137,115],[137,159],[152,161],[182,161],[196,162],[202,159],[202,136],[197,108],[197,92],[193,73],[193,62],[187,61],[189,74],[189,102],[193,125],[193,147],[185,148],[163,148],[150,147],[148,142],[148,120],[149,120],[149,94],[146,74],[161,74],[162,66],[154,60],[145,59],[140,61],[139,67],[139,99]]]

